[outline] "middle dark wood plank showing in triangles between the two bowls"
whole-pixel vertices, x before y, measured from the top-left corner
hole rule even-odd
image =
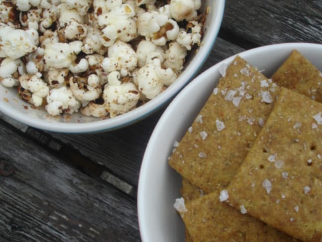
[[[210,57],[199,73],[219,60],[241,51],[243,51],[242,48],[218,38]],[[72,146],[90,160],[103,164],[122,180],[136,186],[145,147],[163,111],[164,108],[143,121],[111,132],[50,134],[65,145]]]

